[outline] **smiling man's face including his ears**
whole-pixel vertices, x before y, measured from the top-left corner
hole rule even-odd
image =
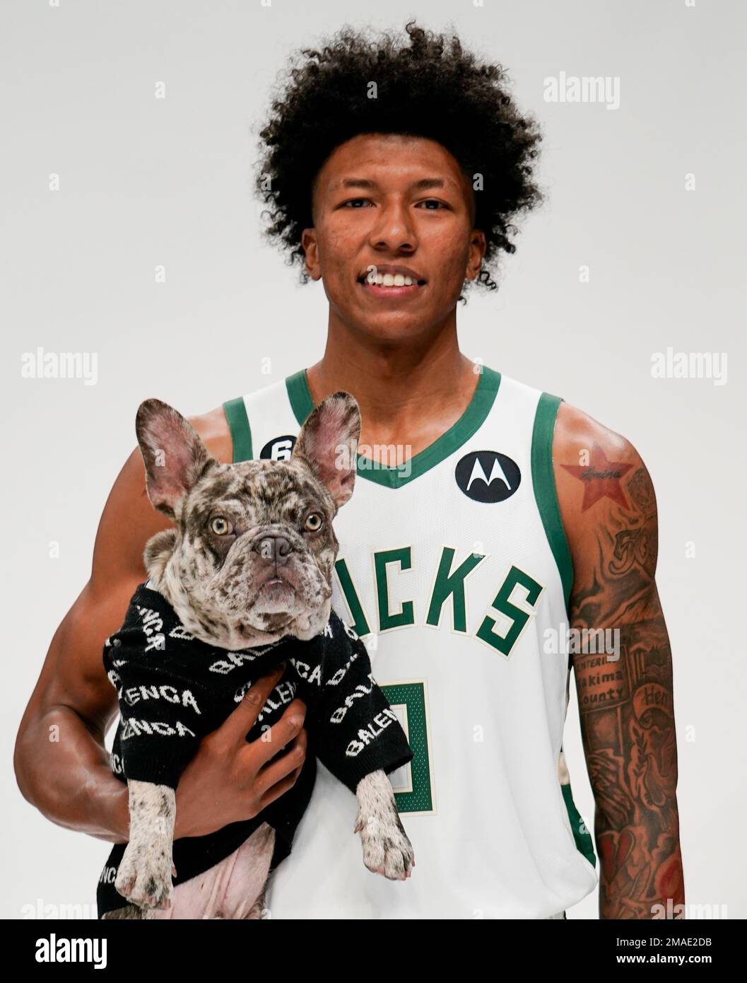
[[[366,134],[338,146],[316,176],[313,215],[302,238],[307,268],[332,317],[367,334],[432,330],[480,272],[486,244],[473,228],[472,187],[434,141]]]

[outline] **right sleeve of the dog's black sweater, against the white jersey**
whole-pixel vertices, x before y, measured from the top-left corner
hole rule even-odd
[[[353,629],[334,620],[313,711],[315,750],[332,775],[355,792],[361,779],[379,769],[388,775],[412,761],[413,752],[373,678],[366,646]]]

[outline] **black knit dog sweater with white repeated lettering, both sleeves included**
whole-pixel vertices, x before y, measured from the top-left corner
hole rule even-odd
[[[352,792],[378,769],[407,764],[413,752],[396,715],[376,685],[366,646],[332,611],[324,630],[308,642],[287,637],[272,645],[229,652],[201,642],[162,594],[141,584],[122,628],[106,639],[103,663],[119,695],[120,722],[111,768],[133,779],[176,788],[201,738],[223,723],[259,676],[285,661],[247,740],[261,737],[287,705],[308,707],[309,743],[294,786],[254,819],[206,837],[174,841],[174,885],[219,863],[266,822],[275,829],[271,867],[288,856],[316,779],[316,757]],[[281,750],[278,750],[281,753]],[[97,889],[98,917],[127,901],[114,887],[126,844],[116,844]]]

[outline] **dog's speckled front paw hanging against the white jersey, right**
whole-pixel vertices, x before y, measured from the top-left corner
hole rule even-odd
[[[374,874],[404,881],[415,866],[415,854],[399,819],[394,790],[382,771],[358,782],[358,816],[354,833],[361,834],[363,862]]]

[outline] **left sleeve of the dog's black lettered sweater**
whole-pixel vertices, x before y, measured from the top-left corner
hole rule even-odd
[[[122,644],[126,636],[107,639],[104,648],[104,667],[119,696],[124,777],[175,789],[200,744],[202,694],[194,682],[165,671],[157,654],[133,657]]]

